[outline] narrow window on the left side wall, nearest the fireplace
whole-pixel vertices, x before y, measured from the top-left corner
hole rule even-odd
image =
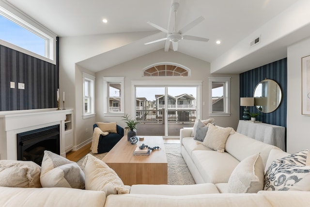
[[[83,73],[83,118],[94,116],[94,81],[95,77]]]

